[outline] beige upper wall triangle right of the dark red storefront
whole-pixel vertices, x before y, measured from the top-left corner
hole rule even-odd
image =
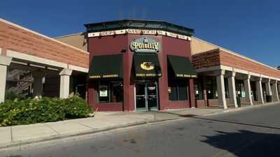
[[[198,54],[201,52],[206,52],[209,50],[217,49],[218,46],[212,45],[211,43],[208,43],[207,41],[201,40],[199,38],[192,37],[192,40],[190,42],[190,46],[192,49],[192,54]]]

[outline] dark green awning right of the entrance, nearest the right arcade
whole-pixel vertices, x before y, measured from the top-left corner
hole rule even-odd
[[[190,63],[188,57],[168,55],[169,66],[171,66],[175,77],[197,77],[197,72]],[[170,73],[170,72],[169,72]]]

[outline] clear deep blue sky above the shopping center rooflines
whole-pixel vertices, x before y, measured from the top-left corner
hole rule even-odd
[[[1,0],[0,17],[50,37],[85,31],[83,24],[120,19],[164,20],[269,66],[280,65],[280,1]]]

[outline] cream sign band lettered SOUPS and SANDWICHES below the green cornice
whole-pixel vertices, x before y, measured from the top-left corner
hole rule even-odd
[[[172,33],[169,31],[161,31],[161,30],[148,30],[148,29],[120,29],[116,31],[99,31],[88,33],[87,37],[99,37],[99,36],[114,36],[119,34],[144,34],[144,35],[159,35],[159,36],[169,36],[172,38],[179,38],[183,40],[191,40],[190,36],[184,36],[179,33]]]

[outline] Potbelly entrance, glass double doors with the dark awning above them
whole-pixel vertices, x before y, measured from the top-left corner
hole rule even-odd
[[[158,77],[161,77],[158,54],[134,54],[135,109],[158,110]]]

